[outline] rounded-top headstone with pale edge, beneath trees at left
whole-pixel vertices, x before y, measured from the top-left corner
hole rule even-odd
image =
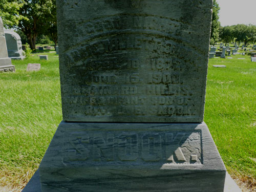
[[[22,50],[22,40],[20,36],[11,30],[5,30],[8,55],[12,59],[24,59],[25,53]]]

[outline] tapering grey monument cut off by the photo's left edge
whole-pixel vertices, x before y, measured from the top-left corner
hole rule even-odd
[[[12,65],[11,59],[8,57],[4,24],[2,17],[0,17],[0,72],[15,71],[15,67]]]

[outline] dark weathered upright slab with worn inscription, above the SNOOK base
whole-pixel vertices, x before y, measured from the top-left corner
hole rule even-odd
[[[57,6],[63,120],[203,121],[212,0]]]

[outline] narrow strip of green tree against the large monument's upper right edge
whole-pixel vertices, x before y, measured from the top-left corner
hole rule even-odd
[[[216,0],[214,0],[214,6],[212,7],[212,19],[211,19],[211,33],[210,33],[210,39],[211,43],[215,45],[215,42],[219,38],[219,28],[220,28],[220,22],[219,22],[219,11],[220,7]]]

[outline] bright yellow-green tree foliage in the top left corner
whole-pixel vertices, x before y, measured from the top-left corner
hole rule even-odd
[[[23,0],[1,0],[0,1],[0,16],[3,19],[4,26],[10,27],[18,25],[20,19],[26,19],[19,15],[19,9],[23,6]]]

